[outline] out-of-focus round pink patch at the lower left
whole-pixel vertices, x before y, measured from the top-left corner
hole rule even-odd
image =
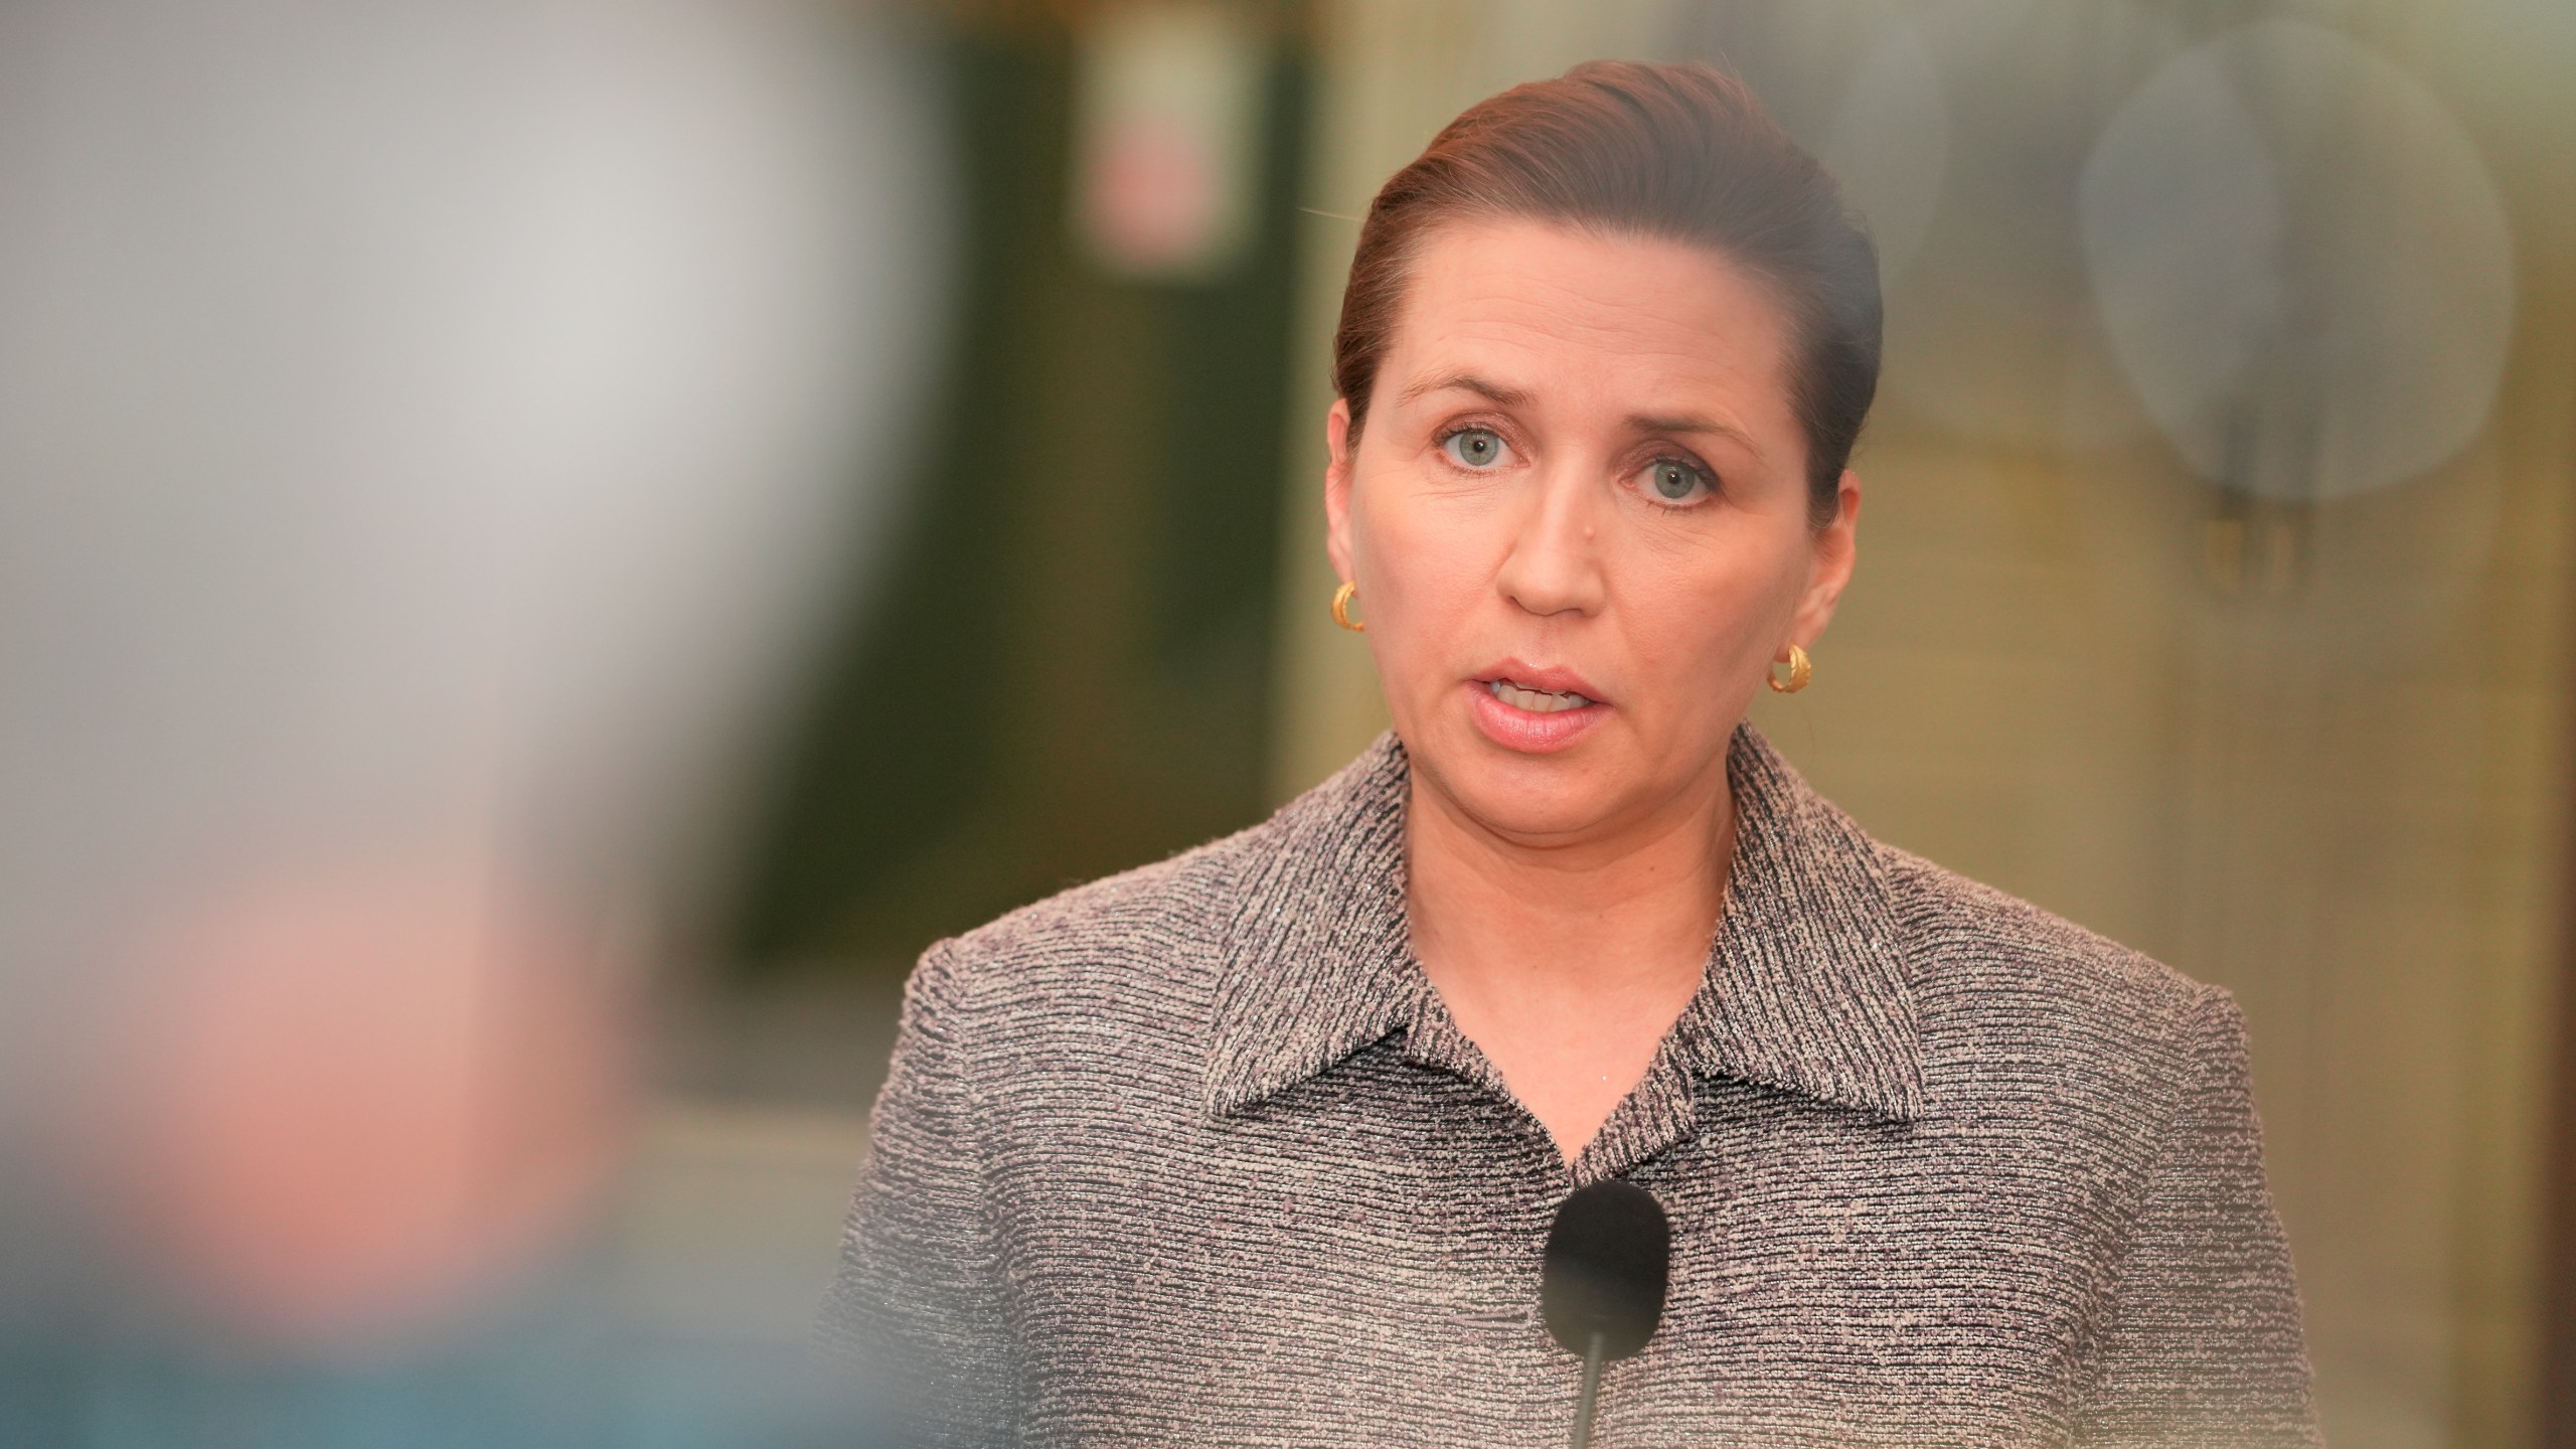
[[[438,864],[224,892],[80,1093],[118,1250],[227,1336],[348,1351],[526,1271],[608,1178],[616,982]]]

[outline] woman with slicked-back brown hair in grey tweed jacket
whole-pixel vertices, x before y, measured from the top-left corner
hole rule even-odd
[[[1744,724],[1852,575],[1868,237],[1723,75],[1378,193],[1327,523],[1394,732],[933,946],[827,1328],[958,1441],[1558,1444],[1577,1186],[1672,1220],[1597,1444],[2311,1441],[2226,993],[1878,846]]]

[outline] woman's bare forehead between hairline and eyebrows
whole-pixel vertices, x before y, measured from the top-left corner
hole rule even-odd
[[[1497,371],[1540,400],[1662,407],[1723,397],[1788,425],[1790,327],[1734,260],[1662,237],[1499,219],[1422,237],[1381,387]]]

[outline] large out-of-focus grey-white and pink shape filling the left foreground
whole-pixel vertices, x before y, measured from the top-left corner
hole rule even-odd
[[[881,523],[907,75],[819,0],[0,8],[0,1356],[546,1281]]]

